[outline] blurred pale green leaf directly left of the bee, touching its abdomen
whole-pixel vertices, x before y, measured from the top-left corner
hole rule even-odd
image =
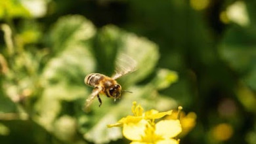
[[[95,70],[95,60],[86,45],[73,45],[51,59],[43,71],[47,84],[66,82],[83,85],[83,79]]]

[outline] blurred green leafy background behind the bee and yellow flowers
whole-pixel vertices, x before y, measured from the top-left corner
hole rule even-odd
[[[181,143],[256,143],[256,1],[1,0],[0,143],[129,143],[107,124],[144,109],[183,107]],[[133,94],[81,110],[89,73],[138,70]],[[189,125],[189,124],[188,124]],[[193,127],[193,126],[192,126]]]

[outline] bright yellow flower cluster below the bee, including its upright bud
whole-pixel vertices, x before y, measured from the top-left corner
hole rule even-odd
[[[171,115],[172,111],[161,112],[152,109],[143,113],[143,108],[133,102],[133,116],[121,118],[116,124],[108,127],[123,126],[123,136],[130,139],[131,144],[178,144],[174,139],[181,133],[179,120],[160,120],[155,124],[154,120],[165,115]]]

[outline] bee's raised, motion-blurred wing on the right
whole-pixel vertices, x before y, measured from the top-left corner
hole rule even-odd
[[[117,58],[116,61],[116,70],[115,75],[112,76],[112,79],[118,79],[127,73],[136,71],[137,62],[133,58],[122,54],[121,58]]]

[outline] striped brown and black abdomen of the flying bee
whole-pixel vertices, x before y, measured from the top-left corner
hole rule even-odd
[[[95,87],[96,85],[100,84],[100,81],[106,77],[100,73],[91,73],[85,77],[85,84],[89,86]]]

